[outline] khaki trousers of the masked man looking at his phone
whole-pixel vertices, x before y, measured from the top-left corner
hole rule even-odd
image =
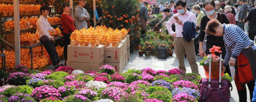
[[[184,63],[184,55],[186,52],[186,56],[188,58],[188,63],[191,67],[192,73],[196,73],[199,75],[198,65],[196,64],[196,53],[193,39],[188,42],[184,38],[176,37],[174,38],[173,44],[174,51],[179,62],[179,69],[186,73],[186,67]]]

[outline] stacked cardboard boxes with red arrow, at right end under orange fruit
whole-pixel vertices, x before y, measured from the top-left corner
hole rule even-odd
[[[117,72],[122,73],[124,71],[126,45],[120,43],[117,47],[109,46],[105,47],[105,59],[104,65],[111,65]]]

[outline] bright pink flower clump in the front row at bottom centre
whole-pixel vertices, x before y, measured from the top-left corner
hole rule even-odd
[[[104,90],[102,90],[102,98],[108,98],[114,101],[120,100],[123,96],[128,94],[124,90],[118,88],[118,87],[107,87]]]

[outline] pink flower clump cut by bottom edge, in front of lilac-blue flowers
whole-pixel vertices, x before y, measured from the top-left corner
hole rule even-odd
[[[179,93],[173,96],[172,102],[196,102],[196,98],[187,93]]]

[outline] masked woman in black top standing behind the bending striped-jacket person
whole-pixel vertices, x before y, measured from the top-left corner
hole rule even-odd
[[[226,49],[224,45],[223,36],[222,37],[216,37],[214,35],[206,36],[205,28],[206,28],[207,22],[213,19],[218,20],[221,24],[229,24],[228,18],[225,16],[225,14],[215,12],[214,1],[204,2],[204,9],[205,9],[206,15],[201,19],[200,33],[199,33],[199,55],[201,57],[205,56],[206,52],[209,52],[209,49],[212,48],[213,45],[215,45],[215,46],[221,47],[220,50],[222,51],[222,59],[224,59],[226,55]],[[207,48],[206,48],[207,51],[204,51],[202,47],[205,37],[207,40]],[[216,53],[216,55],[218,54]],[[229,66],[226,67],[226,71],[224,73],[228,73],[231,76]]]

